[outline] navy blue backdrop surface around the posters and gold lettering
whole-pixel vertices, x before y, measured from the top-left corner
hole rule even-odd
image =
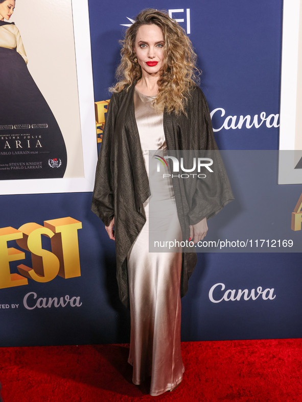
[[[173,17],[183,19],[180,24],[190,30],[203,71],[200,86],[210,111],[214,111],[213,125],[219,147],[278,148],[281,0],[175,0],[151,4],[89,0],[88,4],[96,102],[110,97],[107,88],[114,82],[114,70],[120,58],[118,41],[126,29],[122,24],[130,23],[127,17],[133,19],[145,7],[178,10],[173,12]],[[237,120],[228,116],[237,116]],[[250,116],[252,127],[247,128],[244,122],[241,128],[236,128],[239,116]],[[233,127],[232,121],[235,121]],[[240,218],[240,212],[248,212],[247,200],[253,200],[255,191],[257,209],[253,213],[257,214],[261,198],[274,191],[276,200],[281,197],[283,202],[273,214],[265,206],[263,216],[271,214],[273,228],[281,214],[285,222],[284,238],[301,244],[302,231],[291,231],[290,222],[302,186],[278,186],[277,164],[270,164],[263,170],[266,184],[253,190],[245,180],[253,172],[252,164],[234,175],[231,161],[227,161],[227,166],[231,182],[238,174],[241,177],[240,185],[236,181],[232,183],[236,201],[209,222],[209,230],[211,227],[223,230]],[[0,346],[129,341],[129,313],[120,303],[115,280],[114,242],[109,240],[103,223],[90,212],[90,203],[91,193],[0,197],[1,228],[18,229],[27,222],[43,225],[44,220],[67,216],[82,222],[82,229],[77,231],[80,276],[68,279],[57,276],[45,283],[29,279],[27,285],[0,288],[4,329]],[[241,222],[245,224],[244,219]],[[8,241],[8,246],[21,249],[14,240]],[[50,239],[43,238],[42,246],[50,250]],[[16,266],[20,263],[31,266],[30,253],[24,252],[25,260],[10,262],[11,273],[18,273]],[[298,253],[199,254],[189,292],[182,299],[182,340],[301,337],[300,267]],[[0,269],[3,272],[6,269],[3,261]],[[247,300],[243,295],[236,299],[239,289],[247,289]],[[269,290],[263,292],[266,289]],[[230,291],[225,293],[227,290]],[[64,298],[57,307],[55,297],[57,303],[60,297]],[[66,301],[72,297],[78,298],[74,306]],[[49,304],[51,307],[47,307]]]

